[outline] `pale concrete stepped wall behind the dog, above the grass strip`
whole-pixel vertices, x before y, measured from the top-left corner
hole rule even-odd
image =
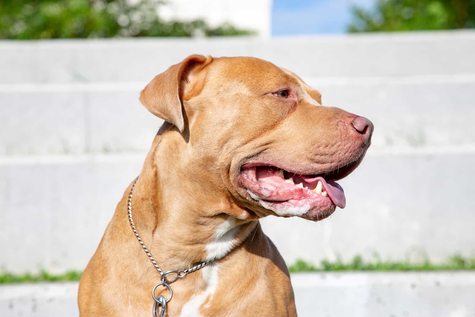
[[[85,267],[161,124],[140,90],[193,53],[266,58],[375,124],[344,210],[262,221],[287,262],[475,256],[474,51],[473,31],[0,42],[0,267]]]

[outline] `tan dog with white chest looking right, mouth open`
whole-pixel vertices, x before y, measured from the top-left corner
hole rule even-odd
[[[189,56],[140,101],[170,123],[133,189],[135,227],[163,271],[215,260],[171,284],[165,316],[296,316],[289,272],[258,219],[317,221],[344,207],[333,181],[359,164],[372,123],[252,57]],[[82,317],[152,314],[161,278],[129,224],[131,186],[81,279]]]

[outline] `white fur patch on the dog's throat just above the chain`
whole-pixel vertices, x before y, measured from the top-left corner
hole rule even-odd
[[[213,235],[214,241],[209,242],[206,246],[206,261],[220,259],[228,254],[237,242],[234,236],[238,229],[236,218],[228,216],[226,221],[216,228]]]

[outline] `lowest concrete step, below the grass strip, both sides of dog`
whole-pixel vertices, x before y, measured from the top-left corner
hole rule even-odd
[[[299,317],[473,317],[475,311],[474,272],[313,272],[291,279]],[[0,311],[3,317],[77,316],[77,286],[0,285]]]

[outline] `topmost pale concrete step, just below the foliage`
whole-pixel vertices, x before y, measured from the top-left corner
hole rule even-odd
[[[1,41],[0,83],[149,81],[190,54],[255,56],[307,76],[474,74],[475,32]]]

